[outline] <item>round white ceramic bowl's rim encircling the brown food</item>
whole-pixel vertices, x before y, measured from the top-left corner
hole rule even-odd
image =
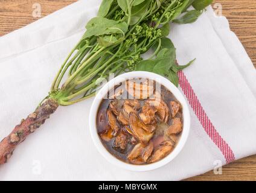
[[[96,117],[102,98],[106,95],[109,89],[112,89],[115,85],[122,83],[124,80],[127,80],[128,78],[150,78],[152,80],[155,80],[156,82],[161,83],[168,90],[170,90],[176,97],[176,99],[182,104],[184,125],[181,138],[179,139],[179,142],[174,148],[174,150],[170,154],[168,154],[168,156],[164,157],[164,159],[159,160],[159,162],[150,163],[147,165],[132,165],[130,163],[123,162],[117,159],[115,156],[112,156],[112,154],[110,154],[109,151],[107,151],[107,149],[102,144],[100,137],[98,136],[96,127]],[[162,77],[161,75],[152,72],[135,71],[121,74],[118,77],[113,78],[100,89],[100,91],[95,96],[95,99],[91,106],[89,114],[89,127],[91,131],[92,140],[94,141],[95,146],[97,147],[98,151],[100,151],[100,153],[110,163],[124,169],[129,169],[131,171],[150,171],[156,168],[160,168],[161,166],[171,162],[171,160],[173,160],[181,152],[182,148],[185,145],[185,142],[187,141],[188,133],[190,131],[190,113],[188,110],[187,101],[185,100],[184,96],[179,91],[179,89],[176,86],[174,86],[173,83],[171,83],[169,80]]]

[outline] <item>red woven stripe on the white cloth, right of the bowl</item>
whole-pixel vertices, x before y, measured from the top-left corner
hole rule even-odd
[[[226,159],[226,163],[230,163],[233,160],[235,160],[235,155],[233,151],[225,142],[225,140],[220,136],[217,130],[214,128],[213,123],[206,115],[205,110],[203,110],[203,107],[200,104],[200,101],[198,100],[196,93],[194,93],[193,88],[191,87],[184,72],[182,71],[179,72],[179,85],[181,86],[184,95],[187,97],[188,103],[190,103],[191,108],[194,110],[194,113],[196,114],[197,118],[202,124],[205,132],[222,152],[223,156]]]

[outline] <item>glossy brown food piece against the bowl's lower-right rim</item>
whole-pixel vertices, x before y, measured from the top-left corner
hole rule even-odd
[[[153,152],[152,157],[150,157],[149,162],[154,163],[173,151],[173,144],[170,141],[162,142],[162,144],[159,145],[159,147]]]

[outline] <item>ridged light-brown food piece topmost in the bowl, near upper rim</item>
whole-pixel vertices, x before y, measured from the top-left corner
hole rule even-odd
[[[153,81],[140,80],[136,81],[126,81],[126,90],[130,96],[136,99],[146,99],[149,98],[154,92]]]

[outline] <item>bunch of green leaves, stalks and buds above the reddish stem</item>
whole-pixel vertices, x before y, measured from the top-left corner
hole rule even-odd
[[[202,2],[203,1],[203,2]],[[95,95],[98,81],[128,71],[150,71],[178,86],[176,49],[166,36],[170,23],[196,21],[211,1],[200,0],[103,0],[98,15],[59,69],[48,97],[62,106]],[[193,5],[194,10],[187,11]],[[153,49],[146,60],[142,54]],[[168,69],[168,71],[166,70]]]

